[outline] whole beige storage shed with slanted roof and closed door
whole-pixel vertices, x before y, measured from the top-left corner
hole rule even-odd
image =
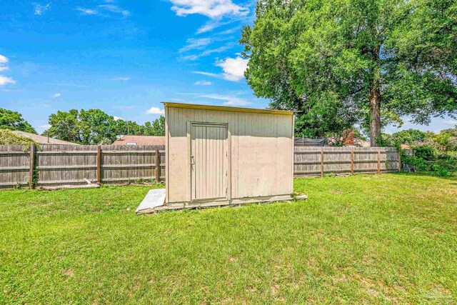
[[[164,105],[166,206],[291,199],[293,111]]]

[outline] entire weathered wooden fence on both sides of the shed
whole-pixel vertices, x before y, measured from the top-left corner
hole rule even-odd
[[[393,147],[296,146],[293,163],[296,177],[376,174],[401,168]],[[0,189],[149,179],[165,181],[164,146],[0,146]]]

